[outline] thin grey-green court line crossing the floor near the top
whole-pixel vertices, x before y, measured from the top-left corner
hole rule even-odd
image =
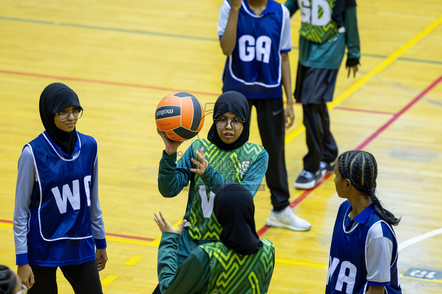
[[[16,21],[16,22],[34,22],[34,23],[42,23],[42,24],[48,24],[48,25],[72,26],[72,27],[91,29],[91,30],[107,30],[107,31],[122,32],[122,33],[140,33],[140,34],[145,34],[145,35],[184,38],[184,39],[193,39],[193,40],[200,40],[200,41],[219,41],[219,38],[186,36],[186,35],[178,35],[178,34],[171,34],[171,33],[150,32],[150,31],[145,31],[145,30],[119,29],[119,28],[111,28],[111,27],[105,27],[105,26],[88,26],[88,25],[80,25],[80,24],[68,23],[68,22],[56,23],[56,22],[47,22],[47,21],[38,20],[38,19],[22,19],[22,18],[6,17],[6,16],[0,16],[0,19]],[[299,48],[293,46],[292,49],[298,50]],[[374,58],[381,58],[381,59],[385,59],[388,57],[386,55],[364,54],[364,53],[362,53],[361,55],[365,56],[365,57],[374,57]],[[412,62],[419,62],[419,63],[442,64],[442,61],[424,60],[424,59],[415,59],[415,58],[406,58],[406,57],[399,57],[397,60],[412,61]]]

